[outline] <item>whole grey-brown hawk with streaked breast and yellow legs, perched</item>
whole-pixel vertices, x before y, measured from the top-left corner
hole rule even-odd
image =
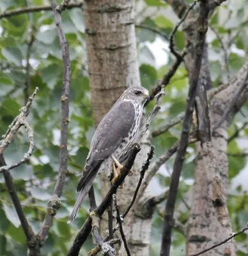
[[[132,143],[136,142],[146,100],[149,100],[149,92],[146,88],[130,87],[102,118],[91,140],[82,177],[77,185],[79,196],[68,223],[74,221],[97,173],[111,171],[112,167],[114,179],[118,176],[115,164],[118,166],[117,170],[122,168],[118,160],[132,146]]]

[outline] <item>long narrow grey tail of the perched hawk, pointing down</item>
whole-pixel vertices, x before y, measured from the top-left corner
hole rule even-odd
[[[79,181],[79,183],[81,183],[82,185],[82,189],[79,191],[79,196],[77,198],[77,201],[75,202],[74,209],[72,210],[72,213],[70,214],[70,217],[67,221],[68,224],[71,224],[72,221],[74,221],[75,216],[77,215],[77,212],[79,211],[79,208],[81,207],[84,198],[88,194],[96,175],[97,172],[91,172],[91,175],[88,175],[88,177],[82,177]]]

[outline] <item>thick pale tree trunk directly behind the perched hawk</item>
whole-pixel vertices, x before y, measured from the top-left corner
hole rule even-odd
[[[97,125],[102,116],[129,86],[140,86],[137,62],[136,35],[134,27],[133,0],[91,0],[84,1],[86,24],[86,46],[89,69],[89,86],[93,116]],[[134,171],[146,158],[149,148],[148,136],[141,141]],[[109,190],[109,179],[102,175],[102,196]],[[125,180],[125,188],[117,194],[122,213],[132,200],[139,173],[134,172]],[[128,216],[127,216],[128,217]],[[128,218],[123,224],[128,247],[132,255],[148,255],[151,221],[143,218]],[[128,227],[128,231],[126,228]],[[102,234],[107,230],[107,214],[101,221]],[[124,255],[121,247],[118,255]]]

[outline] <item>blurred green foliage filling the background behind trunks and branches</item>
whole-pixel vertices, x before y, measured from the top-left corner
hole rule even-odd
[[[171,7],[164,1],[139,0],[136,1],[136,24],[158,29],[169,35],[178,22]],[[187,1],[192,3],[192,1]],[[0,11],[25,6],[49,4],[45,0],[9,0],[0,5]],[[219,33],[228,52],[230,75],[234,76],[247,60],[247,1],[231,0],[227,5],[217,8],[210,20],[211,26]],[[70,47],[72,80],[70,84],[70,123],[68,125],[68,170],[70,175],[61,198],[63,207],[55,216],[49,236],[42,248],[43,255],[66,255],[68,248],[88,215],[89,203],[84,202],[73,225],[67,225],[69,212],[76,200],[75,187],[88,153],[94,124],[91,112],[89,93],[88,67],[86,62],[86,43],[84,40],[84,17],[80,8],[66,10],[62,13],[63,29]],[[167,40],[164,36],[144,28],[136,28],[137,48],[139,50],[139,65],[142,85],[148,90],[162,79],[166,70],[173,63],[173,56],[169,54]],[[53,14],[50,11],[37,12],[8,17],[0,20],[0,134],[4,134],[13,118],[19,114],[24,106],[27,92],[26,84],[30,84],[29,93],[38,86],[40,91],[36,95],[28,121],[35,133],[35,152],[28,163],[22,164],[11,171],[17,188],[21,204],[31,226],[38,232],[43,218],[47,200],[52,195],[58,174],[59,156],[59,124],[60,97],[62,85],[63,65],[61,48],[54,25]],[[178,49],[184,47],[182,27],[175,36]],[[209,58],[213,85],[228,81],[224,62],[224,52],[217,36],[209,29]],[[33,41],[33,42],[32,42]],[[231,41],[231,44],[229,42]],[[32,44],[31,44],[32,42]],[[31,45],[31,47],[30,47]],[[28,56],[30,54],[30,56]],[[31,67],[27,74],[27,58]],[[171,118],[180,115],[185,109],[185,95],[189,85],[187,70],[184,65],[178,68],[171,83],[166,88],[166,97],[162,111],[152,124],[156,129],[166,124]],[[148,112],[153,108],[153,102],[148,104]],[[248,106],[242,108],[229,128],[229,136],[236,129],[248,122]],[[181,125],[171,128],[161,136],[154,138],[156,146],[155,157],[165,152],[180,136]],[[240,132],[228,145],[229,152],[239,153],[247,150],[248,127]],[[242,149],[240,149],[240,147]],[[8,164],[21,159],[27,151],[28,141],[24,130],[15,136],[12,144],[4,151]],[[190,188],[194,175],[194,146],[187,150],[187,159],[183,165],[180,191],[176,205],[176,217],[186,225],[189,214],[187,204],[190,204]],[[169,185],[169,173],[173,167],[173,157],[167,161],[160,172],[154,177],[151,189],[155,193],[164,191]],[[244,227],[248,220],[248,196],[244,182],[237,179],[240,173],[244,176],[247,158],[228,157],[229,182],[236,180],[230,186],[228,209],[233,230]],[[247,168],[246,168],[247,170]],[[247,179],[247,174],[246,174]],[[97,200],[100,200],[100,182],[95,184]],[[155,189],[159,188],[159,189]],[[26,255],[26,239],[20,227],[19,219],[13,209],[12,201],[0,175],[0,255]],[[186,198],[186,199],[185,199]],[[159,255],[161,227],[164,205],[159,205],[153,216],[153,230],[151,236],[150,255]],[[247,234],[236,237],[238,255],[248,254]],[[91,237],[82,248],[81,255],[86,255],[92,248]],[[174,256],[182,255],[185,248],[185,236],[175,228],[173,232]]]

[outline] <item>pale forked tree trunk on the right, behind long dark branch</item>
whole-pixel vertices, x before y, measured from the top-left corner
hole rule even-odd
[[[182,16],[183,12],[187,10],[187,4],[184,1],[174,0],[168,1],[168,3],[171,4],[178,17]],[[189,47],[187,61],[185,61],[189,76],[194,60],[194,52],[190,50],[190,46],[194,44],[195,40],[196,13],[198,13],[197,10],[190,12],[183,24],[185,44]],[[215,95],[211,100],[209,109],[210,127],[221,119],[224,110],[228,108],[233,95],[238,90],[238,86],[242,86],[242,83],[244,83],[246,72],[247,64],[240,70],[236,78],[231,81],[231,85],[226,90]],[[211,87],[212,82],[206,45],[203,52],[198,93],[199,90],[209,90]],[[236,110],[244,104],[245,99],[247,99],[247,90],[237,102]],[[234,115],[235,110],[231,111],[228,120],[212,134],[212,141],[196,144],[195,184],[187,228],[187,255],[201,252],[205,248],[219,243],[232,233],[227,209],[227,129]],[[201,117],[198,116],[198,122],[203,121],[203,119],[201,120]],[[203,255],[217,254],[236,255],[233,240]]]

